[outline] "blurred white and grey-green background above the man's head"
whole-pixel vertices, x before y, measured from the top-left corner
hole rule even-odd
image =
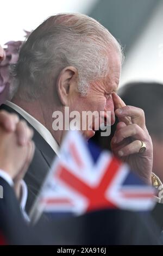
[[[1,1],[1,45],[23,40],[23,29],[31,31],[61,12],[90,15],[121,42],[126,56],[121,86],[131,80],[163,82],[163,0]]]

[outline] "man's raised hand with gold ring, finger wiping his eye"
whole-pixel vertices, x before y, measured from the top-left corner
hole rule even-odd
[[[151,184],[153,147],[145,124],[145,114],[140,108],[126,106],[115,93],[112,94],[112,99],[119,120],[111,140],[112,152],[127,162],[143,181]],[[146,144],[144,153],[139,153],[141,141]]]

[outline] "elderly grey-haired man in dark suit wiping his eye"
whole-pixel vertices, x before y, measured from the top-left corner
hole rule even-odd
[[[114,36],[82,14],[49,17],[23,44],[15,66],[12,101],[2,106],[34,128],[36,151],[26,174],[27,211],[33,206],[66,130],[53,130],[53,112],[110,111],[119,119],[112,150],[151,183],[152,142],[143,111],[116,95],[123,54]],[[86,139],[95,131],[82,131]]]

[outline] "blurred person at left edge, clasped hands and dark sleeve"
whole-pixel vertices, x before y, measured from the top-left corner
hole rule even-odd
[[[0,111],[0,244],[18,241],[18,237],[23,241],[27,236],[18,201],[21,203],[21,180],[34,155],[32,137],[32,129],[16,114]]]

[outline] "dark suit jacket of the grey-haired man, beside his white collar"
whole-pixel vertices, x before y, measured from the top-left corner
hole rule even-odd
[[[8,111],[10,113],[16,113],[20,117],[20,119],[24,119],[22,115],[20,115],[14,109],[10,108],[7,105],[1,105],[0,109],[4,109],[5,111]],[[31,126],[29,123],[28,125],[33,128],[33,126]],[[45,139],[42,138],[39,132],[37,132],[34,128],[33,130],[33,141],[35,143],[36,149],[33,161],[29,166],[26,176],[24,177],[24,181],[26,182],[28,187],[28,199],[26,204],[26,211],[28,214],[32,209],[36,196],[40,191],[42,182],[45,179],[45,176],[49,168],[51,167],[51,163],[55,157],[54,150],[49,146]]]

